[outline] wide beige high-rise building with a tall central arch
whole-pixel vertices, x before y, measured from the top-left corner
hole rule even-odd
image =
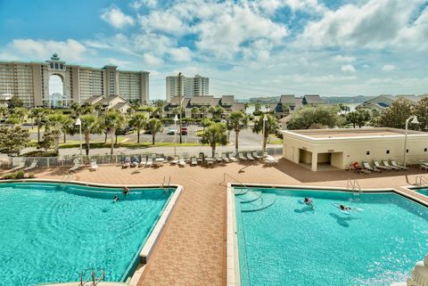
[[[52,76],[61,78],[62,93],[49,90]],[[67,64],[53,53],[45,62],[0,61],[0,94],[18,96],[26,106],[62,106],[83,103],[93,95],[120,95],[125,100],[149,101],[149,72],[102,69]],[[59,98],[61,97],[61,98]]]

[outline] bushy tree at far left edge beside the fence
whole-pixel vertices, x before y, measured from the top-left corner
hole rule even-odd
[[[0,153],[20,155],[29,145],[29,130],[22,127],[0,127]]]

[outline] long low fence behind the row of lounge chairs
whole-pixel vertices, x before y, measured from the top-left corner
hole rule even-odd
[[[258,151],[261,154],[260,150],[241,150],[240,151]],[[277,157],[282,155],[282,147],[269,147],[265,150],[268,155]],[[218,151],[220,153],[221,151]],[[232,153],[231,151],[229,151]],[[198,156],[200,151],[177,151],[177,156],[184,157],[185,159],[190,158],[192,156]],[[141,160],[142,157],[152,156],[152,154],[156,154],[156,157],[163,157],[166,159],[173,159],[174,152],[165,152],[165,153],[155,153],[155,152],[141,152],[141,153],[133,153],[133,154],[113,154],[113,155],[92,155],[92,156],[84,156],[83,162],[85,164],[89,164],[91,160],[96,160],[98,165],[103,164],[118,164],[123,162],[127,157],[133,158],[136,157]],[[207,152],[205,152],[207,155]],[[210,155],[210,153],[209,153]],[[74,165],[74,160],[79,159],[78,156],[62,156],[62,157],[11,157],[8,159],[4,159],[0,162],[0,168],[12,168],[18,166],[22,160],[25,161],[25,166],[31,165],[34,160],[37,160],[37,168],[57,168],[57,167],[70,167]]]

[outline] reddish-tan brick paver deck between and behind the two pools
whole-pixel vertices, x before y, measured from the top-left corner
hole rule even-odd
[[[37,178],[61,179],[65,169],[38,170]],[[224,182],[224,174],[226,182]],[[244,162],[179,168],[100,167],[80,170],[71,180],[103,184],[184,185],[169,223],[145,267],[138,285],[226,285],[226,183],[320,185],[346,188],[348,178],[358,179],[361,188],[398,188],[414,184],[426,174],[416,168],[383,174],[358,175],[350,171],[312,172],[281,159],[265,167]],[[232,177],[230,177],[232,176]],[[405,191],[406,192],[406,191]],[[425,200],[424,196],[422,200]]]

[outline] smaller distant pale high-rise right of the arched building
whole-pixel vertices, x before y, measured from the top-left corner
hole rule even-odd
[[[210,78],[204,78],[200,75],[194,78],[181,76],[167,77],[167,102],[175,96],[190,98],[193,96],[204,96],[210,94]]]

